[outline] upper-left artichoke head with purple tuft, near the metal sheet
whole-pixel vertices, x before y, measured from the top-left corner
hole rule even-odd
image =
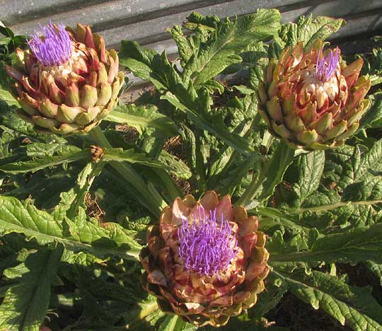
[[[40,132],[86,133],[117,103],[124,81],[118,56],[86,25],[41,26],[28,40],[28,50],[16,50],[17,62],[6,66],[15,80],[13,95],[24,120]]]

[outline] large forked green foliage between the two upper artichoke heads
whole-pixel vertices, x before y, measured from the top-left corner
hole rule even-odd
[[[269,40],[276,35],[279,13],[260,10],[253,16],[215,23],[214,33],[204,42],[196,42],[196,38],[187,41],[184,37],[182,42],[178,42],[180,54],[188,54],[183,57],[181,74],[170,64],[166,54],[145,50],[136,42],[122,41],[120,63],[141,79],[151,81],[163,95],[162,98],[185,112],[190,122],[197,127],[221,138],[234,149],[249,153],[252,149],[248,142],[229,132],[221,118],[212,115],[208,92],[211,90],[208,87],[207,91],[204,90],[203,84],[208,84],[227,66],[241,62],[238,54],[253,50],[262,40]],[[177,36],[175,40],[179,40],[179,29],[173,29],[173,33]]]

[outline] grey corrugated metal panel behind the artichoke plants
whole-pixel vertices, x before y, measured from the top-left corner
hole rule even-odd
[[[382,29],[381,0],[0,0],[0,21],[23,34],[50,20],[71,26],[81,21],[102,34],[109,47],[129,39],[173,54],[175,45],[166,28],[182,23],[191,11],[224,17],[272,7],[283,12],[284,22],[310,12],[347,18],[335,37]]]

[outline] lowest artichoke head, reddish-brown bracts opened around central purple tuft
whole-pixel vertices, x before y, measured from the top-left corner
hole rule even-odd
[[[140,258],[144,288],[159,308],[194,325],[219,327],[257,301],[269,254],[258,220],[228,195],[192,195],[163,209]]]

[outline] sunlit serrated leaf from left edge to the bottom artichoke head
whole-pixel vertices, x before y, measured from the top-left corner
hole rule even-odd
[[[16,198],[0,196],[0,234],[13,232],[36,238],[40,245],[58,241],[66,249],[83,250],[96,256],[118,255],[134,260],[141,248],[127,234],[123,234],[125,242],[121,243],[120,239],[113,241],[115,229],[109,231],[91,222],[76,223],[69,219],[60,223],[46,211],[40,211],[31,204],[23,205]],[[119,233],[120,238],[122,232]]]

